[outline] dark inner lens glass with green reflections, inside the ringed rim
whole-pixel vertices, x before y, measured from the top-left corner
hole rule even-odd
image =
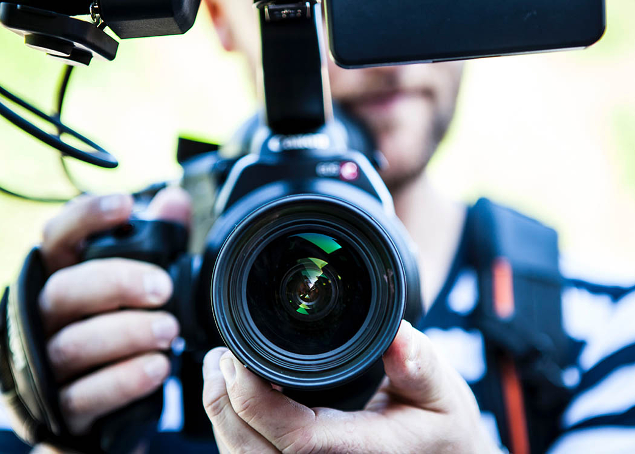
[[[368,257],[352,239],[291,230],[257,253],[246,309],[259,334],[280,349],[322,354],[354,338],[373,302]]]

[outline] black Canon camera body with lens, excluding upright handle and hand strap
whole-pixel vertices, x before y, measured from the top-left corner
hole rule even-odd
[[[401,319],[421,316],[422,297],[415,248],[371,150],[349,147],[363,132],[344,115],[306,135],[278,135],[260,120],[237,138],[251,152],[229,166],[217,152],[185,161],[185,181],[201,172],[219,180],[203,253],[186,253],[183,227],[131,220],[91,238],[84,259],[168,269],[167,309],[189,357],[227,345],[300,401],[362,408],[383,377],[380,357]]]

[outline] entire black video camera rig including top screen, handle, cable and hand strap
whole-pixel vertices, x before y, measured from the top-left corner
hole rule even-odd
[[[238,0],[235,0],[238,1]],[[179,34],[200,0],[76,0],[0,3],[0,22],[25,43],[71,65],[112,60],[120,38]],[[439,4],[428,0],[326,0],[331,55],[365,67],[584,47],[604,30],[602,0]],[[52,9],[51,9],[52,8]],[[133,218],[89,239],[84,260],[124,257],[161,265],[182,326],[178,352],[185,432],[209,434],[200,408],[204,352],[227,345],[260,377],[309,406],[362,408],[383,377],[381,356],[401,319],[422,315],[417,257],[394,213],[382,159],[361,124],[333,107],[319,0],[254,2],[262,38],[264,112],[241,128],[226,159],[209,144],[182,142],[183,184],[218,188],[202,254],[184,227]],[[90,16],[83,20],[74,16]],[[0,104],[0,114],[68,156],[104,167],[97,144],[0,88],[0,95],[53,123],[50,135]],[[90,145],[65,144],[70,133]],[[46,276],[37,249],[5,295],[0,386],[18,434],[83,451],[124,452],[156,424],[160,394],[73,437],[48,366],[37,295]],[[211,308],[211,309],[210,309]],[[153,423],[154,421],[154,423]],[[203,424],[201,424],[201,421]]]

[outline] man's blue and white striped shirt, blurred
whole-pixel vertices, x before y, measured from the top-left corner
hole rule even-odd
[[[479,298],[476,269],[467,264],[465,238],[438,298],[418,328],[462,375],[481,408],[486,429],[499,445],[497,408],[491,396],[483,334],[471,314]],[[572,338],[563,382],[573,397],[559,418],[559,437],[549,454],[635,453],[635,279],[631,286],[566,277],[563,328]],[[498,389],[500,392],[500,389]],[[531,438],[531,434],[530,434]]]

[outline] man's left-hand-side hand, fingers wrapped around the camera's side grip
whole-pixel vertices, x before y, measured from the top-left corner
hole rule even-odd
[[[39,305],[62,413],[75,434],[151,394],[170,372],[163,351],[179,327],[157,310],[172,293],[170,276],[121,258],[77,264],[86,237],[128,220],[132,206],[130,196],[79,197],[44,230],[41,251],[51,276]],[[187,224],[189,215],[187,194],[178,189],[159,193],[149,207],[152,218]]]

